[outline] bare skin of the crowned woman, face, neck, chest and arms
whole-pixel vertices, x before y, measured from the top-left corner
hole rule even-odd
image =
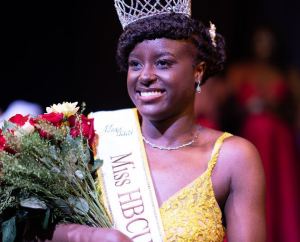
[[[195,125],[195,83],[205,71],[205,63],[196,62],[195,56],[190,42],[170,39],[143,41],[129,55],[128,93],[141,115],[143,135],[157,145],[174,147],[198,133],[191,146],[175,151],[145,145],[159,206],[203,174],[222,134]],[[212,184],[224,211],[228,242],[265,241],[264,174],[253,145],[236,136],[227,138]],[[116,230],[80,225],[61,226],[55,236],[53,241],[130,241]]]

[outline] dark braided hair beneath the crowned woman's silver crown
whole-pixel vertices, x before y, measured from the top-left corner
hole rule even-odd
[[[170,13],[140,19],[125,27],[117,49],[117,63],[121,71],[127,71],[128,56],[136,44],[158,38],[189,40],[197,47],[196,61],[204,61],[206,64],[201,84],[224,68],[226,59],[224,38],[217,34],[214,46],[209,28],[203,23],[183,14]]]

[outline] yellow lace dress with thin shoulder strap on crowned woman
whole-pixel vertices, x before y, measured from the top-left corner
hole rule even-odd
[[[160,214],[167,242],[222,242],[225,229],[222,212],[213,191],[211,174],[217,162],[223,133],[216,141],[206,171],[178,191],[161,208]]]

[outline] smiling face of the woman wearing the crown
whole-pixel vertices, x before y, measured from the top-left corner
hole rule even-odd
[[[193,112],[195,82],[203,74],[195,56],[196,48],[183,40],[145,40],[135,46],[128,57],[127,88],[142,116],[158,121]]]

